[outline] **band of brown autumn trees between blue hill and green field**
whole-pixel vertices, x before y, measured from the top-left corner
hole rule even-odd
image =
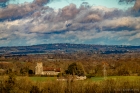
[[[61,68],[63,74],[72,73],[67,71],[70,64],[80,63],[84,73],[91,77],[103,76],[102,62],[106,62],[108,64],[106,67],[107,75],[109,76],[140,75],[140,54],[104,55],[89,53],[0,57],[0,74],[11,72],[17,75],[34,74],[36,62],[43,62],[43,65],[47,67]]]

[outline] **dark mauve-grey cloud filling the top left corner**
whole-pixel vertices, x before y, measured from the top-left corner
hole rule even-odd
[[[6,8],[0,9],[0,21],[16,20],[29,15],[37,16],[42,8],[42,5],[48,3],[49,0],[34,0],[32,3],[22,5],[9,4]]]

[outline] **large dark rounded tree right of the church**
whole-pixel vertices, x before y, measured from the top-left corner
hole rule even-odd
[[[85,71],[80,63],[72,63],[68,66],[68,69],[65,71],[66,74],[71,74],[71,75],[78,75],[78,76],[84,76]]]

